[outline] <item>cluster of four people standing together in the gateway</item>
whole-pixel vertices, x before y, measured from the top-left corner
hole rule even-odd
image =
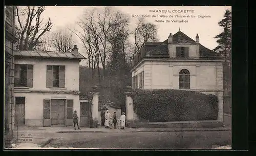
[[[123,112],[120,117],[120,126],[121,129],[124,129],[125,126],[125,113]],[[101,117],[101,126],[105,126],[105,128],[110,128],[111,124],[114,124],[114,128],[117,128],[117,121],[118,117],[116,115],[116,112],[114,112],[113,117],[111,117],[111,114],[109,113],[109,110],[106,110],[106,112],[102,109],[100,113]]]

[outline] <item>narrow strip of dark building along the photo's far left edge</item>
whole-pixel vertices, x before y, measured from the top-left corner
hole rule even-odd
[[[5,120],[4,120],[4,129],[5,129],[5,145],[10,144],[13,138],[13,129],[14,129],[14,115],[15,115],[15,106],[13,98],[13,87],[14,87],[14,43],[17,41],[15,37],[15,6],[5,6],[4,12],[4,27],[5,27],[5,65],[4,65],[4,74],[5,74]]]

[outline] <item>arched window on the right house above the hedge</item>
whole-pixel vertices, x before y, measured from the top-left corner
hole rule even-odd
[[[183,69],[179,73],[179,88],[180,89],[189,89],[190,88],[190,75],[189,71]]]

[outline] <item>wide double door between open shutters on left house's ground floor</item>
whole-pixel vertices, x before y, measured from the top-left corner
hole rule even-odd
[[[65,124],[65,101],[64,99],[51,100],[51,125]]]

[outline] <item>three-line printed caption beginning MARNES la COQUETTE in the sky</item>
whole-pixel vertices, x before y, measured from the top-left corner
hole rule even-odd
[[[150,14],[151,13],[151,14]],[[135,18],[156,18],[155,22],[161,23],[165,22],[164,18],[182,18],[179,20],[170,19],[166,20],[166,22],[172,23],[187,23],[188,20],[183,18],[211,18],[211,15],[208,14],[196,14],[195,10],[149,10],[149,13],[146,14],[132,14],[132,17]],[[160,19],[159,19],[160,18]]]

